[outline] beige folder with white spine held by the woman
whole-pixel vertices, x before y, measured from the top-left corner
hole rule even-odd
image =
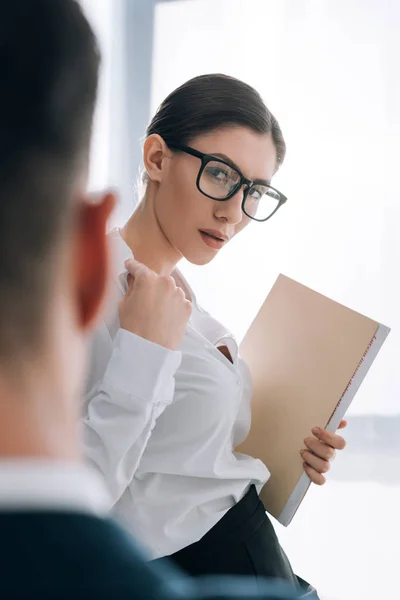
[[[300,450],[316,425],[335,431],[390,329],[280,275],[240,346],[253,378],[252,424],[236,450],[271,477],[266,510],[288,525],[310,480]]]

